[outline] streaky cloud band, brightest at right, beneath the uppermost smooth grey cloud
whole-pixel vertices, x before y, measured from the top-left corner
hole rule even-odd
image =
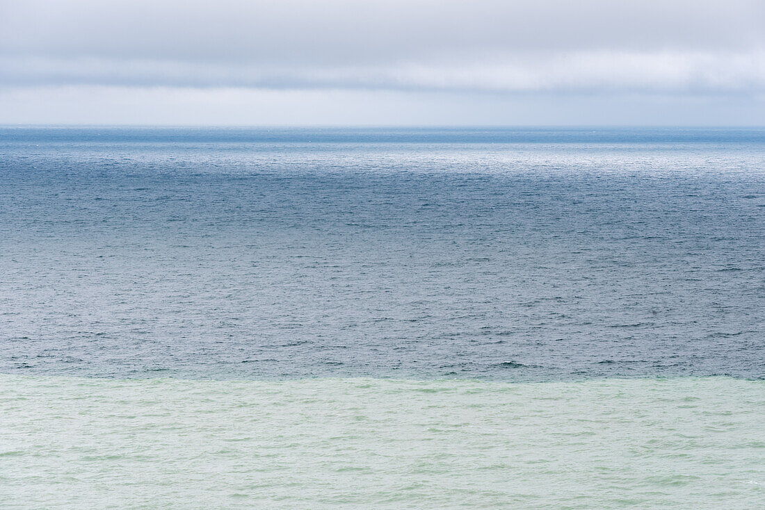
[[[535,57],[317,66],[183,60],[0,57],[15,86],[239,86],[272,89],[397,89],[529,93],[761,93],[765,51],[750,53],[579,51]]]

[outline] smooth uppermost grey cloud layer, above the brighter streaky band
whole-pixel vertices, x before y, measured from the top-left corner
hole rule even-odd
[[[369,62],[475,51],[749,49],[758,0],[4,2],[0,47],[24,55]]]

